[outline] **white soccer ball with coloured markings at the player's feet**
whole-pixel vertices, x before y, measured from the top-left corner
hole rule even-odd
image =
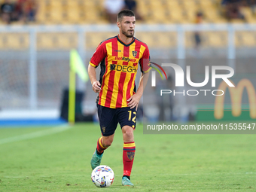
[[[109,166],[97,166],[91,178],[96,187],[109,187],[114,181],[114,172]]]

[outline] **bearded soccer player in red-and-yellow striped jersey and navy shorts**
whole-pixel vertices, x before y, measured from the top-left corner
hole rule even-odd
[[[151,69],[148,46],[133,37],[135,25],[133,11],[120,11],[117,15],[119,35],[99,44],[88,67],[93,91],[99,93],[96,103],[102,132],[90,164],[92,169],[100,165],[103,152],[113,142],[117,123],[120,123],[123,133],[122,184],[125,186],[133,186],[130,174],[136,151],[133,139],[136,111]],[[97,81],[96,67],[99,63],[101,72]],[[139,66],[142,75],[136,91],[135,78]]]

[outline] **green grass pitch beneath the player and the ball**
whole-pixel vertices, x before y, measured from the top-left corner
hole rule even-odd
[[[0,129],[0,191],[256,191],[256,135],[144,135],[135,132],[131,179],[121,186],[123,140],[117,128],[102,164],[114,183],[97,188],[90,158],[98,124]]]

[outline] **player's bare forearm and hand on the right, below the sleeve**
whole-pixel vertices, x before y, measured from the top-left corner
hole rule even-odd
[[[148,77],[149,77],[149,72],[142,73],[141,78],[139,79],[139,87],[137,92],[127,100],[128,107],[136,108],[136,111],[137,111],[139,100],[141,99],[145,86],[147,85],[147,82],[148,82]]]

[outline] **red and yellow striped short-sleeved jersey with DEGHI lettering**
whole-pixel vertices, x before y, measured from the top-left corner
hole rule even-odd
[[[143,73],[149,72],[149,59],[147,44],[137,38],[129,44],[121,41],[118,35],[102,41],[90,59],[91,66],[100,64],[101,69],[99,82],[102,89],[96,102],[108,108],[127,107],[127,99],[136,92],[138,66]]]

